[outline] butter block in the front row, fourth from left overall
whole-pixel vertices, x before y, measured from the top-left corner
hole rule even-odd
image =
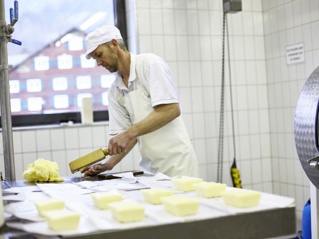
[[[111,202],[108,204],[113,217],[120,222],[142,221],[145,207],[137,202]]]

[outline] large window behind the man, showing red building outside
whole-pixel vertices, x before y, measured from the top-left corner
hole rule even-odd
[[[12,5],[11,1],[4,0],[4,3],[9,6]],[[15,31],[12,38],[21,40],[23,45],[7,45],[8,58],[14,59],[9,62],[13,65],[13,69],[9,69],[9,80],[19,81],[19,87],[17,82],[12,82],[10,86],[11,99],[20,99],[14,100],[20,103],[12,105],[21,106],[20,111],[19,106],[12,108],[13,126],[56,124],[65,117],[72,118],[75,123],[81,122],[78,117],[81,94],[93,96],[94,120],[108,120],[108,105],[102,105],[101,95],[107,91],[110,83],[107,77],[111,76],[106,76],[101,83],[100,76],[108,75],[108,71],[97,67],[95,60],[85,59],[84,40],[89,32],[102,25],[117,24],[126,42],[125,10],[122,2],[19,2],[24,16],[23,20],[21,18],[16,23],[15,26],[20,31]],[[41,14],[36,18],[35,8],[41,9]],[[68,16],[72,20],[61,16]],[[8,20],[9,18],[6,19]],[[27,34],[32,29],[41,31]],[[66,96],[60,95],[68,95],[68,100]]]

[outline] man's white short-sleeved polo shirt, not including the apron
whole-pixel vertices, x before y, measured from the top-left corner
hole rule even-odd
[[[150,93],[153,108],[160,104],[178,103],[181,105],[176,85],[173,82],[172,73],[162,58],[152,53],[130,55],[129,87],[127,88],[125,86],[122,76],[118,74],[108,90],[110,135],[119,134],[132,126],[130,116],[127,110],[119,104],[119,100],[120,91],[123,91],[123,96],[125,96],[130,91],[141,89],[138,84],[136,72],[142,85]]]

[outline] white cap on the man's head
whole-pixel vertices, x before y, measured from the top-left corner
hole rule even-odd
[[[85,38],[86,59],[91,58],[91,53],[101,44],[111,41],[112,39],[123,39],[120,30],[115,26],[101,26],[94,32],[87,34]]]

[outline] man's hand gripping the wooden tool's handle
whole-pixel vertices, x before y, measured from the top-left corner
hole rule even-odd
[[[127,130],[114,136],[108,141],[108,155],[125,153],[131,141]]]

